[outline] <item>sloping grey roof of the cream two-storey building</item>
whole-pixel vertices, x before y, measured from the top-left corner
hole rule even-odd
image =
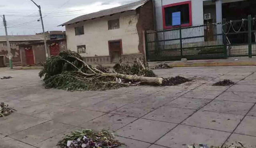
[[[116,14],[116,13],[119,13],[119,12],[125,12],[125,11],[128,11],[128,10],[136,10],[140,6],[143,6],[144,4],[146,4],[146,2],[148,2],[148,1],[150,1],[150,0],[140,0],[138,2],[133,2],[133,3],[130,3],[130,4],[123,5],[123,6],[110,8],[110,9],[102,10],[102,11],[99,11],[99,12],[94,12],[94,13],[91,13],[91,14],[85,14],[83,16],[78,16],[77,18],[74,18],[74,19],[72,19],[72,20],[70,20],[70,21],[68,21],[64,24],[61,24],[59,26],[65,26],[65,25],[69,25],[69,24],[73,24],[73,23],[78,23],[78,22],[85,21],[85,20],[90,20],[90,19],[93,19],[93,18],[99,18],[99,17],[102,17],[102,16],[108,16],[108,15]]]

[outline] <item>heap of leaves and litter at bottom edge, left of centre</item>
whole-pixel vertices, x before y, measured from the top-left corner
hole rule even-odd
[[[115,140],[114,134],[108,130],[76,130],[64,139],[60,140],[57,146],[60,148],[114,148],[124,145]]]

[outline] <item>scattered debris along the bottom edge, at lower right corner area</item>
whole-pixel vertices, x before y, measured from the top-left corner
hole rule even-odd
[[[241,142],[234,142],[230,145],[223,146],[210,146],[208,147],[206,144],[193,144],[189,145],[188,148],[246,148]]]

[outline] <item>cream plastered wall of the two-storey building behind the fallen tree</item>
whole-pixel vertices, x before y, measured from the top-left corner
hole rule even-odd
[[[108,20],[120,20],[120,28],[108,30]],[[122,39],[122,53],[140,53],[138,50],[139,37],[136,29],[138,16],[136,11],[104,16],[66,26],[68,49],[77,51],[77,45],[86,45],[84,57],[108,56],[108,41]],[[75,36],[75,27],[84,26],[84,34]]]

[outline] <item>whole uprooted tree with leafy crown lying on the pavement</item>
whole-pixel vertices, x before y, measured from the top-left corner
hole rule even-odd
[[[170,79],[156,77],[144,63],[137,59],[131,65],[117,64],[113,72],[102,66],[92,67],[73,51],[61,52],[49,58],[39,73],[46,88],[74,90],[106,90],[128,85],[168,85]],[[188,81],[185,78],[184,82]],[[182,80],[182,81],[183,81]],[[184,83],[182,82],[182,83]]]

